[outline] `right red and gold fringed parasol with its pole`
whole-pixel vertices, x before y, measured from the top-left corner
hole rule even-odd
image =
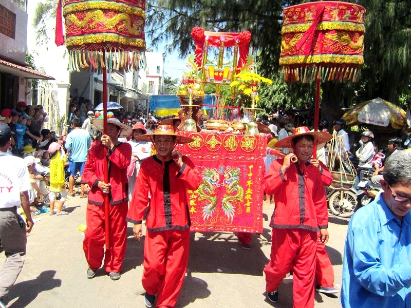
[[[364,63],[364,17],[362,6],[346,2],[311,2],[283,10],[279,64],[286,82],[316,82],[315,131],[321,81],[358,79]]]

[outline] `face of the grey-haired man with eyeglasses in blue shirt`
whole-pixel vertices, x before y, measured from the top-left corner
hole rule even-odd
[[[384,180],[381,181],[384,189],[384,201],[394,216],[401,220],[411,209],[411,186],[406,184],[388,185]]]

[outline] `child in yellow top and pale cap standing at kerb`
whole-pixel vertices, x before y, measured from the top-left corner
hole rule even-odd
[[[66,182],[64,180],[64,164],[67,162],[67,157],[64,151],[61,150],[61,145],[57,142],[52,142],[48,148],[50,153],[50,215],[54,212],[54,202],[59,200],[57,205],[57,215],[68,215],[62,211],[64,202],[67,199]]]

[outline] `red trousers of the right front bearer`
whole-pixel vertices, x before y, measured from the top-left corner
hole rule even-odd
[[[275,291],[293,269],[294,307],[314,307],[317,234],[306,229],[273,228],[270,262],[264,268],[266,291]]]

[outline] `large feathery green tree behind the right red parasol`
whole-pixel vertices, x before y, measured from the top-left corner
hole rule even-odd
[[[309,1],[305,1],[309,2]],[[323,109],[340,107],[372,99],[377,96],[398,102],[404,91],[409,91],[411,75],[411,2],[407,0],[348,0],[367,9],[365,36],[365,65],[360,82],[356,84],[327,82],[322,84]],[[147,2],[146,33],[154,44],[172,42],[180,56],[193,50],[190,36],[194,26],[207,30],[252,33],[252,48],[258,51],[258,73],[271,78],[274,84],[263,89],[261,103],[267,109],[277,105],[299,106],[314,100],[315,84],[285,84],[278,71],[279,47],[283,7],[300,1],[235,1],[158,0]],[[399,81],[401,79],[401,81]],[[324,112],[323,112],[324,113]]]

